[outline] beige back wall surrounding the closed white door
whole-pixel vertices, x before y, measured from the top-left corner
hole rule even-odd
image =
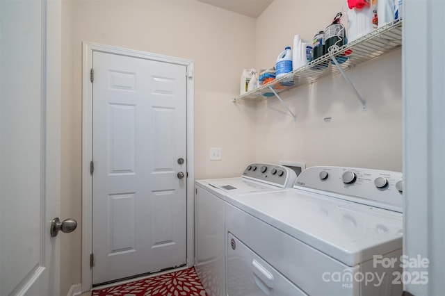
[[[64,0],[62,215],[81,221],[81,42],[195,62],[195,176],[238,174],[255,160],[256,111],[233,104],[255,63],[255,19],[195,0]],[[246,144],[247,143],[247,144]],[[251,143],[251,145],[249,145]],[[209,161],[210,147],[223,161]],[[63,236],[61,295],[81,281],[81,224]]]

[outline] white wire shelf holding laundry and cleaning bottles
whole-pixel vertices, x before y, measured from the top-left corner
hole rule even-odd
[[[360,63],[378,58],[383,54],[399,49],[402,46],[402,19],[389,23],[377,30],[350,42],[335,52],[331,52],[312,60],[309,64],[295,69],[289,74],[275,79],[259,88],[251,90],[239,97],[232,98],[232,101],[250,99],[261,101],[268,97],[275,96],[270,90],[273,88],[278,94],[284,90],[297,88],[300,85],[314,83],[325,76],[339,74],[341,70],[334,65],[332,57],[336,58],[339,67],[343,71],[355,67]]]

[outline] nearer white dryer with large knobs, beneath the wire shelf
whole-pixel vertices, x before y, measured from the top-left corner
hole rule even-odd
[[[227,195],[227,295],[401,295],[402,175],[309,167]]]

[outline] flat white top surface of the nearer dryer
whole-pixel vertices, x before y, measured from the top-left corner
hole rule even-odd
[[[226,201],[349,266],[402,247],[402,214],[394,211],[302,190]]]

